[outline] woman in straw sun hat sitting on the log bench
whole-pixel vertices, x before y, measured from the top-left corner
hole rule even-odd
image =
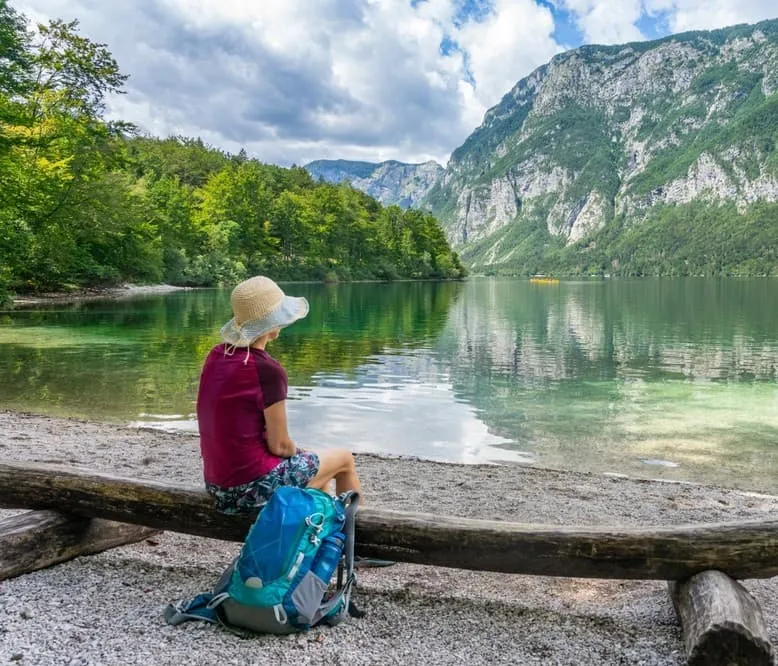
[[[232,291],[233,318],[205,360],[197,394],[203,476],[222,513],[249,513],[279,486],[359,491],[347,449],[308,451],[289,437],[287,375],[265,347],[308,314],[305,298],[287,296],[257,276]]]

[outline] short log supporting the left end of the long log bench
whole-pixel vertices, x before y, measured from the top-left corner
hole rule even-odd
[[[0,521],[0,580],[135,543],[157,532],[56,511],[28,511]]]

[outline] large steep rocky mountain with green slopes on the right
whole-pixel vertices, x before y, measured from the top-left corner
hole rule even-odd
[[[421,205],[486,272],[778,274],[778,20],[584,46],[519,81]]]

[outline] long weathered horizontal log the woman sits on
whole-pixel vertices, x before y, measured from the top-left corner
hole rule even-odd
[[[242,541],[251,516],[224,516],[192,487],[53,465],[0,464],[0,506],[69,513]],[[683,580],[708,569],[778,575],[778,521],[673,527],[560,527],[360,509],[360,555],[477,571]]]

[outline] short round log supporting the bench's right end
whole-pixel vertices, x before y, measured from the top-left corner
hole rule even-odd
[[[683,627],[689,666],[771,666],[773,647],[762,610],[740,583],[704,571],[669,583]]]

